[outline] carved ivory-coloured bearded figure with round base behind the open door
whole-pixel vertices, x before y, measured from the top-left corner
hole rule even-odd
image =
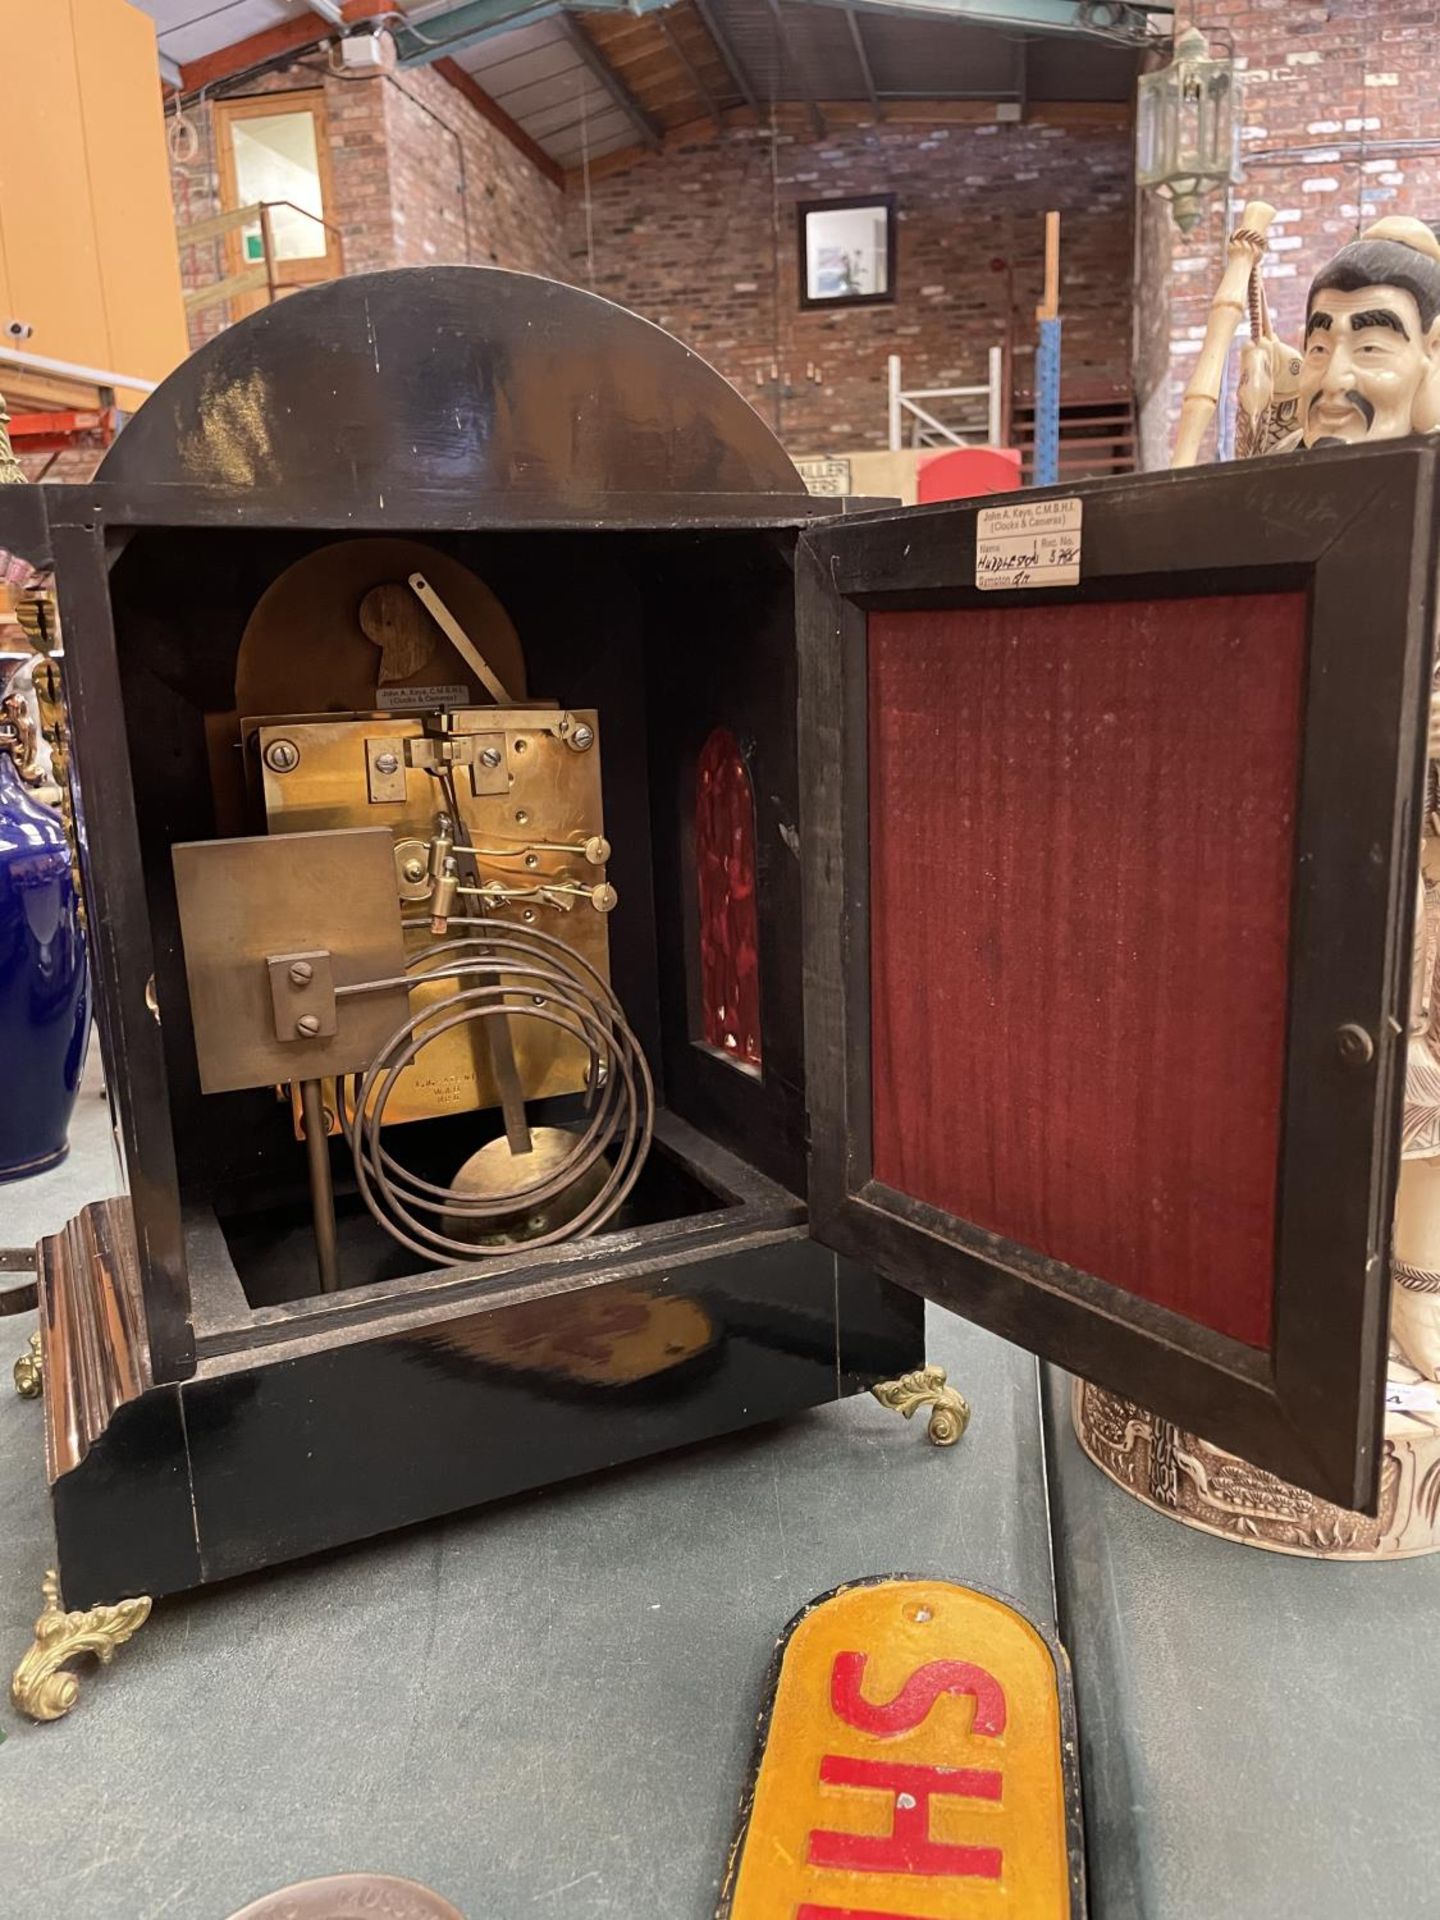
[[[1194,463],[1215,411],[1240,313],[1236,451],[1400,440],[1440,428],[1440,240],[1417,219],[1384,219],[1311,282],[1300,349],[1281,342],[1260,261],[1273,209],[1244,209],[1212,324],[1185,396],[1175,465]],[[1440,1549],[1440,687],[1430,703],[1430,770],[1415,925],[1405,1069],[1404,1164],[1396,1202],[1390,1392],[1380,1515],[1315,1500],[1246,1461],[1087,1382],[1075,1430],[1112,1478],[1150,1505],[1252,1546],[1332,1559]]]

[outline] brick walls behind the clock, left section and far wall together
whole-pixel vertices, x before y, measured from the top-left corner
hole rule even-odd
[[[248,90],[290,88],[324,100],[348,273],[468,259],[593,284],[695,346],[797,451],[885,444],[891,351],[910,388],[977,384],[1008,340],[1027,396],[1050,207],[1064,217],[1066,394],[1131,392],[1131,132],[1114,109],[1039,109],[1023,127],[858,123],[824,140],[783,125],[697,132],[605,171],[588,209],[432,69],[342,79],[309,58]],[[179,223],[219,207],[211,113],[188,117],[200,146],[173,167]],[[876,190],[899,202],[897,301],[803,313],[797,202]],[[188,288],[213,284],[223,246],[186,250],[182,267]],[[194,344],[228,319],[192,315]]]

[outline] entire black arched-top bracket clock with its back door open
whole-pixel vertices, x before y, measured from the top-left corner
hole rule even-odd
[[[833,518],[449,267],[0,492],[127,1173],[40,1252],[56,1619],[852,1392],[952,1438],[925,1300],[1373,1505],[1434,457],[1060,495],[995,589],[983,503]]]

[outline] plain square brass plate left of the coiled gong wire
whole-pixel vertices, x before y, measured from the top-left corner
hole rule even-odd
[[[407,989],[349,995],[334,1031],[280,1041],[269,962],[324,954],[336,987],[403,975],[386,828],[184,841],[171,852],[204,1091],[363,1071],[405,1020]]]

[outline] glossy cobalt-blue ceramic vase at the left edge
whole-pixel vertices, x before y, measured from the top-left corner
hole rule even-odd
[[[0,743],[0,1181],[65,1158],[88,1033],[65,828]]]

